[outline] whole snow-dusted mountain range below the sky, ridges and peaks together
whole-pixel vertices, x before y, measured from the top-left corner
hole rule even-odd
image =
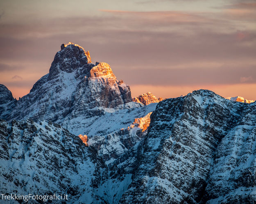
[[[108,64],[62,44],[29,94],[0,86],[0,188],[77,204],[255,203],[255,106],[208,90],[132,99]]]

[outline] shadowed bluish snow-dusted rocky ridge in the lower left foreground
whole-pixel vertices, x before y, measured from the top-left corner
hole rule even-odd
[[[45,129],[46,126],[50,130]],[[105,166],[79,137],[47,122],[39,125],[32,120],[13,120],[8,124],[1,120],[0,141],[3,194],[66,193],[68,203],[91,203],[99,199],[96,186]],[[29,200],[29,203],[39,202]],[[63,202],[65,200],[52,201]],[[19,202],[11,200],[10,203]]]

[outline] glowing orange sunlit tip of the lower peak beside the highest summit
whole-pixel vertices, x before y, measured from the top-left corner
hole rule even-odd
[[[116,79],[116,76],[114,75],[109,64],[105,62],[96,62],[96,66],[93,67],[89,72],[89,77],[106,77]]]

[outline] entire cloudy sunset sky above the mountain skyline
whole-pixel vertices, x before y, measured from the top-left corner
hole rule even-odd
[[[256,100],[256,0],[0,0],[0,42],[0,84],[17,99],[73,42],[133,97]]]

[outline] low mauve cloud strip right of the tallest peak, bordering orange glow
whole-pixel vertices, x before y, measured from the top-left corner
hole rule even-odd
[[[117,70],[116,75],[120,75]],[[225,67],[218,68],[175,68],[175,69],[134,69],[125,75],[125,82],[131,85],[153,86],[206,86],[221,84],[256,83],[252,77],[256,75],[255,66],[251,67]],[[119,77],[118,77],[119,78]]]

